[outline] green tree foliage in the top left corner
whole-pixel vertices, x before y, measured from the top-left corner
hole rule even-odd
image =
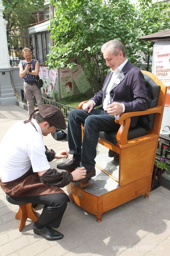
[[[5,7],[3,17],[8,22],[7,30],[35,23],[34,14],[44,5],[44,0],[2,0],[2,2]]]

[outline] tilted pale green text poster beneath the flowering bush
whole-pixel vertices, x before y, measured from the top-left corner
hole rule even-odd
[[[80,91],[80,93],[85,93],[88,89],[90,89],[90,84],[85,79],[84,70],[82,69],[82,66],[78,64],[76,66],[76,70],[73,71],[73,79]]]

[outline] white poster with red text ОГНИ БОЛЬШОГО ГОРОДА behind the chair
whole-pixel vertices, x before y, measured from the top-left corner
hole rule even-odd
[[[165,107],[170,107],[170,44],[154,45],[152,72],[168,87]]]

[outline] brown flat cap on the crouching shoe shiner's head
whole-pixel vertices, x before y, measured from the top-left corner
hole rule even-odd
[[[42,118],[58,129],[65,129],[65,119],[62,112],[54,105],[41,105],[39,113]]]

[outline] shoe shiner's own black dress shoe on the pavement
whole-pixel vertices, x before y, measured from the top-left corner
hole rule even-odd
[[[36,235],[42,236],[47,240],[58,240],[63,238],[63,235],[61,233],[48,226],[45,226],[41,230],[39,230],[34,224],[33,231]]]

